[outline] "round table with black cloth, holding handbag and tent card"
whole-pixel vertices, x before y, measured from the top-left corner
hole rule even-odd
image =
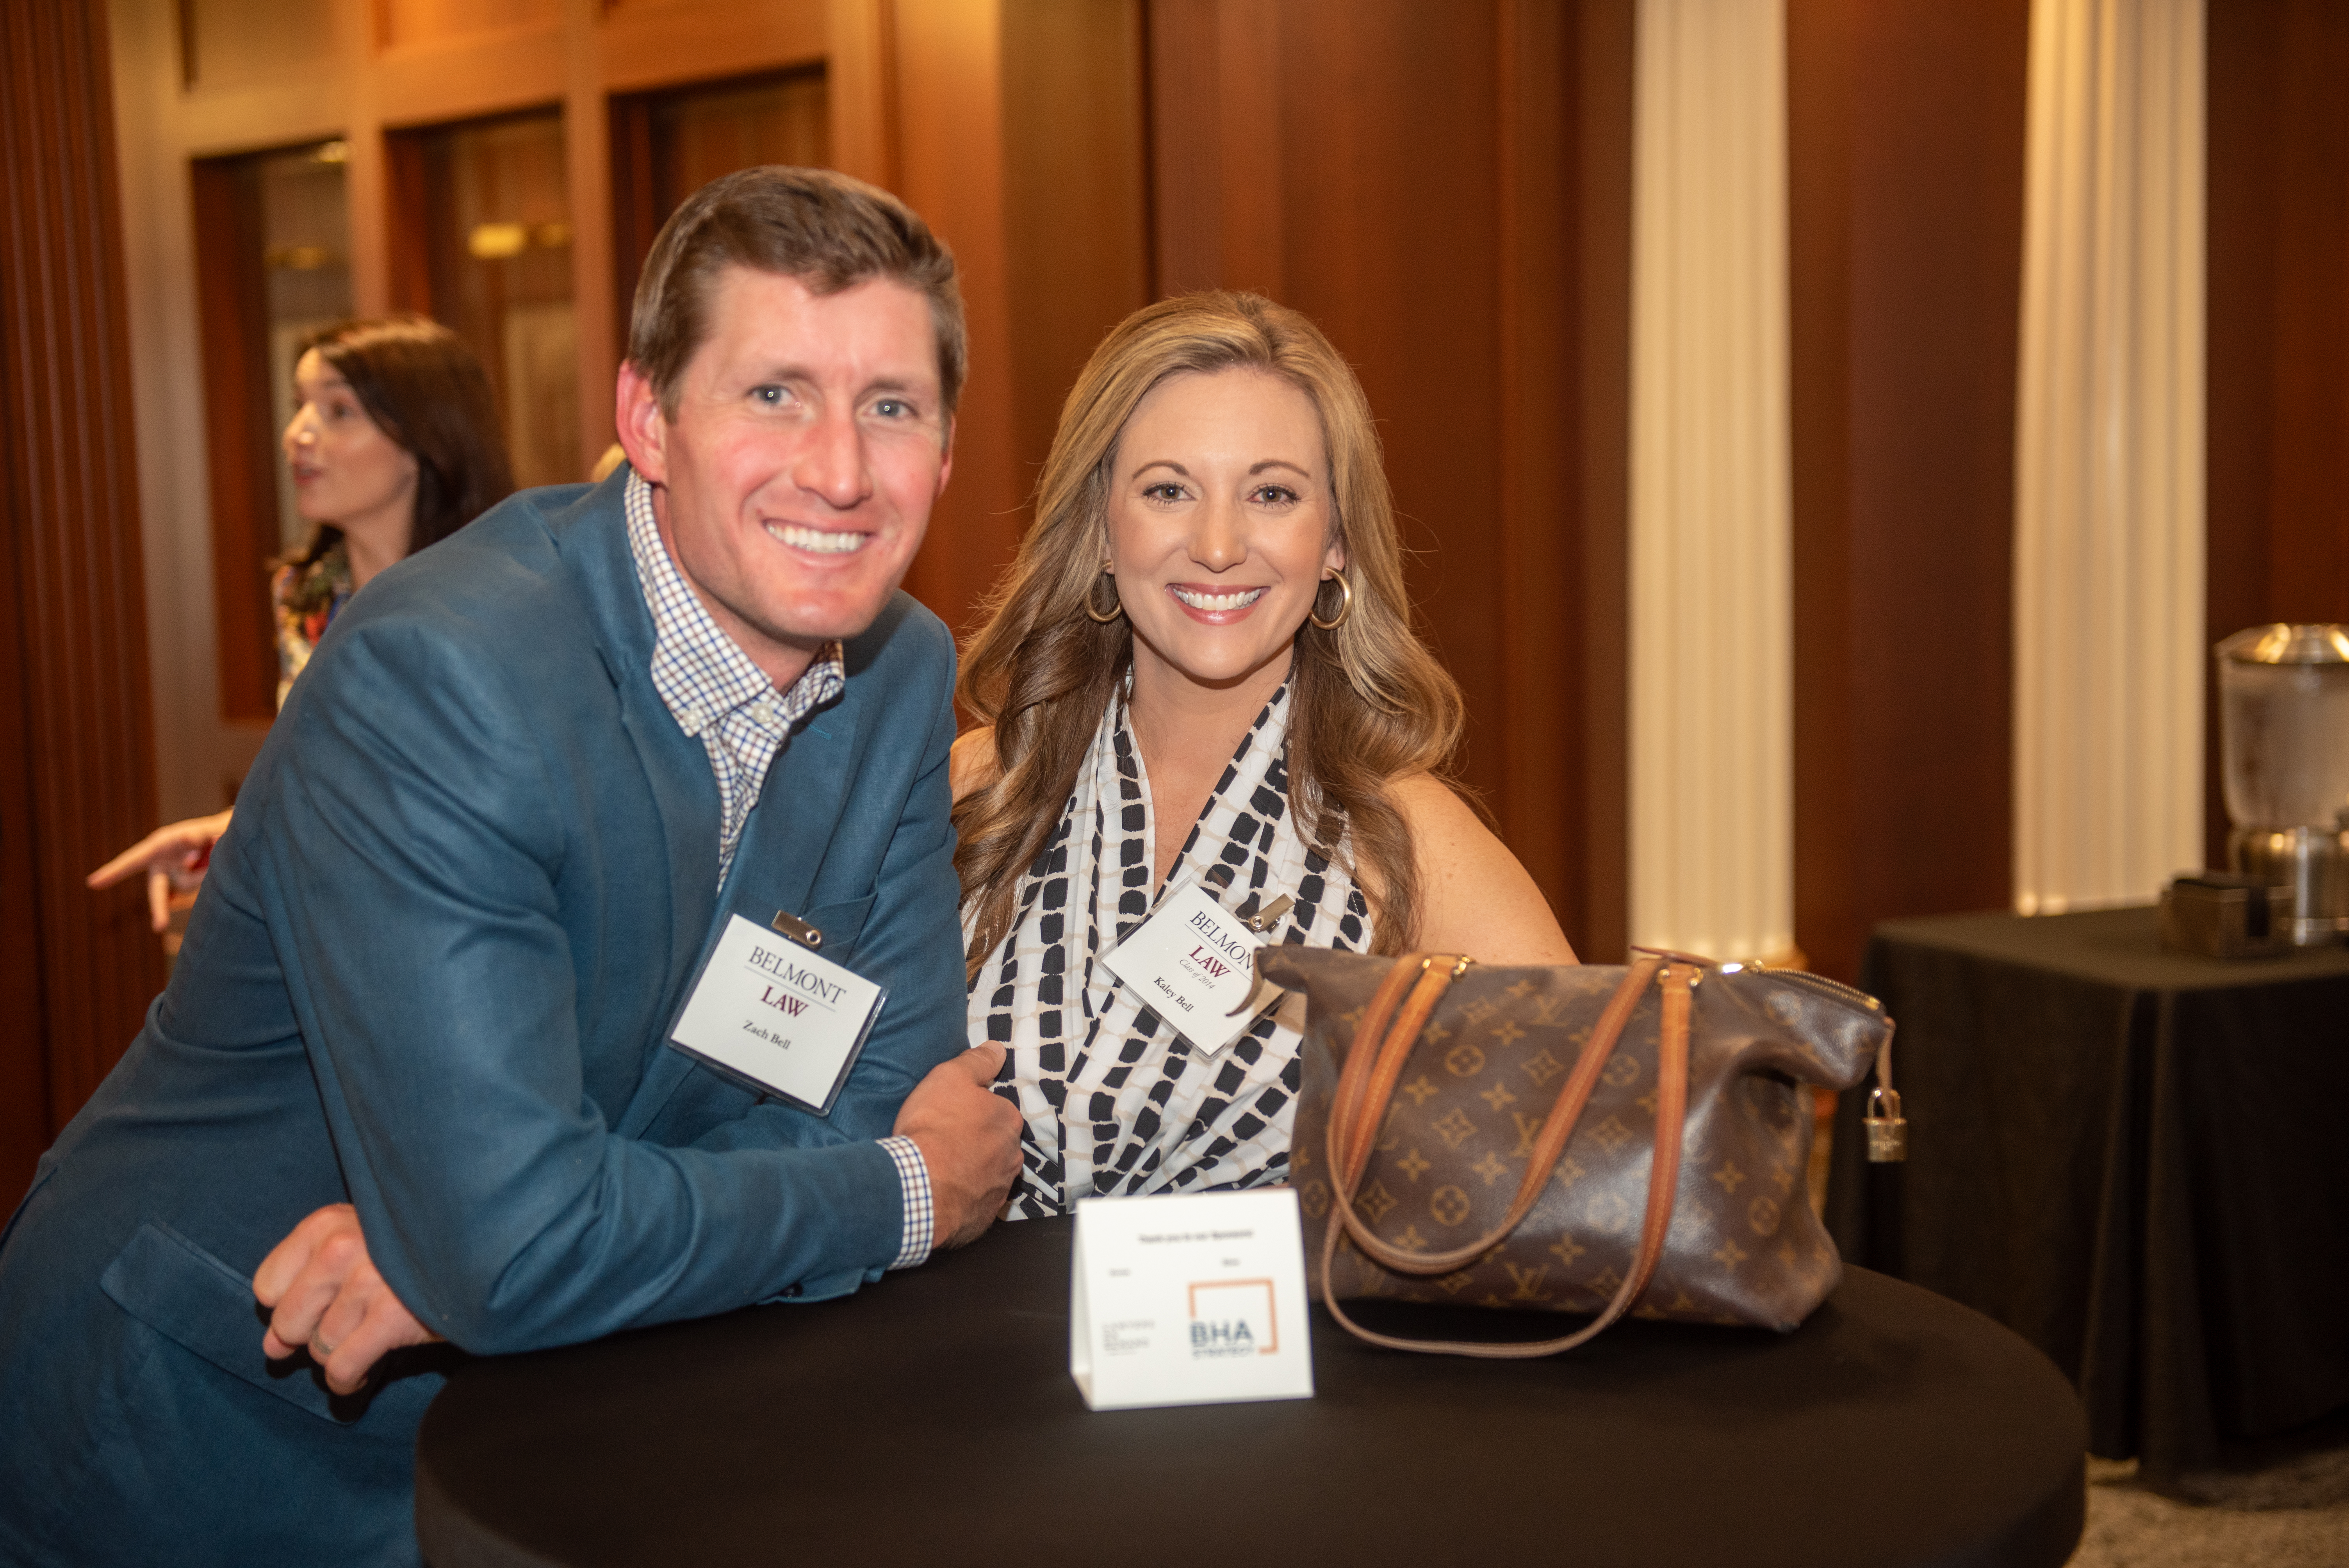
[[[2055,1568],[2079,1540],[2069,1385],[1882,1275],[1783,1338],[1626,1322],[1543,1361],[1372,1350],[1315,1310],[1313,1399],[1092,1413],[1071,1237],[998,1225],[846,1300],[460,1366],[418,1437],[425,1561]],[[1555,1331],[1416,1322],[1461,1317]]]

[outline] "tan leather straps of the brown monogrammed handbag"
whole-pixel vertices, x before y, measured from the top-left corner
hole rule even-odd
[[[1388,972],[1386,984],[1379,988],[1379,998],[1388,998],[1391,993],[1400,995],[1402,988],[1409,986],[1414,958],[1416,955],[1395,962],[1395,969]],[[1452,1249],[1447,1253],[1402,1253],[1381,1242],[1379,1237],[1369,1235],[1369,1228],[1362,1225],[1360,1216],[1353,1209],[1353,1192],[1360,1185],[1362,1167],[1369,1160],[1369,1141],[1372,1141],[1369,1131],[1374,1131],[1379,1120],[1386,1115],[1386,1096],[1393,1094],[1393,1084],[1402,1075],[1400,1061],[1409,1059],[1409,1049],[1419,1038],[1419,1028],[1426,1026],[1426,1019],[1435,1007],[1435,998],[1440,998],[1442,991],[1449,988],[1452,976],[1456,976],[1466,967],[1466,962],[1461,962],[1449,972],[1445,972],[1435,967],[1438,962],[1440,960],[1435,958],[1416,958],[1419,986],[1412,986],[1412,1002],[1402,1007],[1402,1016],[1395,1019],[1395,1026],[1384,1038],[1379,1038],[1369,1026],[1374,1021],[1381,1028],[1386,1026],[1386,1012],[1393,1012],[1393,1000],[1388,1000],[1388,1009],[1381,1012],[1379,998],[1372,998],[1372,1007],[1365,1007],[1362,1023],[1355,1030],[1353,1052],[1346,1056],[1346,1073],[1339,1080],[1339,1101],[1332,1108],[1330,1117],[1330,1171],[1332,1178],[1337,1178],[1334,1218],[1339,1218],[1341,1223],[1330,1225],[1322,1232],[1322,1300],[1330,1307],[1330,1314],[1337,1317],[1337,1322],[1344,1324],[1348,1333],[1372,1345],[1386,1345],[1391,1350],[1423,1350],[1423,1352],[1489,1357],[1489,1359],[1548,1357],[1562,1350],[1574,1350],[1576,1345],[1583,1345],[1586,1340],[1614,1326],[1616,1319],[1621,1319],[1623,1312],[1628,1312],[1630,1305],[1640,1300],[1640,1293],[1656,1275],[1656,1263],[1663,1258],[1663,1242],[1672,1230],[1672,1204],[1680,1192],[1680,1145],[1689,1108],[1691,993],[1696,991],[1696,984],[1703,979],[1703,969],[1684,962],[1665,962],[1663,958],[1651,958],[1633,965],[1633,969],[1623,976],[1623,984],[1616,988],[1616,995],[1609,998],[1607,1012],[1600,1014],[1600,1023],[1593,1026],[1581,1061],[1576,1061],[1574,1077],[1567,1080],[1567,1084],[1557,1094],[1557,1103],[1550,1106],[1550,1115],[1543,1122],[1534,1157],[1527,1160],[1525,1183],[1520,1183],[1517,1199],[1510,1204],[1508,1221],[1503,1221],[1501,1228],[1494,1230],[1492,1235],[1468,1246]],[[1647,991],[1647,984],[1658,976],[1658,969],[1663,984],[1663,1019],[1658,1028],[1658,1052],[1656,1052],[1658,1056],[1656,1148],[1654,1155],[1649,1157],[1647,1214],[1640,1225],[1640,1244],[1633,1251],[1630,1275],[1626,1275],[1623,1284],[1616,1289],[1607,1307],[1574,1333],[1553,1340],[1525,1340],[1525,1343],[1501,1343],[1501,1345],[1470,1343],[1470,1340],[1407,1340],[1388,1333],[1377,1333],[1346,1317],[1346,1307],[1339,1305],[1337,1284],[1330,1270],[1330,1265],[1337,1261],[1339,1235],[1353,1237],[1355,1246],[1360,1246],[1367,1256],[1377,1258],[1379,1263],[1388,1263],[1388,1256],[1400,1258],[1405,1263],[1400,1272],[1433,1275],[1468,1263],[1485,1249],[1508,1237],[1510,1230],[1515,1230],[1515,1225],[1525,1218],[1525,1211],[1532,1209],[1532,1199],[1539,1197],[1541,1185],[1548,1183],[1550,1171],[1555,1169],[1557,1157],[1564,1153],[1567,1138],[1574,1131],[1574,1120],[1581,1117],[1583,1108],[1590,1101],[1590,1089],[1597,1080],[1597,1070],[1614,1054],[1614,1042],[1621,1038],[1623,1023],[1630,1019],[1630,1012],[1637,1005],[1640,993]],[[1398,974],[1402,976],[1400,984],[1395,979]],[[1419,1005],[1421,993],[1428,991],[1428,981],[1435,976],[1440,979],[1428,993],[1426,1005],[1421,1007]],[[1416,1014],[1416,1019],[1412,1014]],[[1405,1030],[1405,1026],[1409,1028]],[[1379,1056],[1377,1063],[1369,1061],[1372,1047],[1377,1047]],[[1395,1059],[1393,1070],[1386,1070],[1388,1056]],[[1588,1082],[1583,1082],[1586,1070],[1588,1070]],[[1348,1106],[1348,1094],[1346,1094],[1348,1077],[1355,1080],[1353,1106]],[[1369,1091],[1377,1087],[1379,1080],[1386,1082],[1386,1094],[1372,1099]],[[1339,1110],[1351,1110],[1351,1115],[1341,1120],[1337,1115]],[[1360,1143],[1348,1145],[1348,1138],[1341,1134],[1341,1124],[1360,1129],[1362,1131]],[[1543,1155],[1543,1150],[1548,1153]],[[1374,1244],[1377,1251],[1372,1246],[1365,1246],[1365,1242]],[[1393,1265],[1388,1263],[1388,1268]]]

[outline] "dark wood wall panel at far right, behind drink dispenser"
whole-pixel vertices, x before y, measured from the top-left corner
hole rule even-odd
[[[2349,9],[2208,12],[2208,634],[2349,622]],[[2203,810],[2227,854],[2217,690]]]

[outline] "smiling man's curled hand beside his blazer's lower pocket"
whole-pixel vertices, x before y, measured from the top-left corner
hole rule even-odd
[[[275,1310],[261,1352],[280,1361],[308,1345],[336,1394],[357,1392],[383,1352],[439,1340],[383,1284],[350,1204],[327,1204],[270,1249],[254,1298]]]

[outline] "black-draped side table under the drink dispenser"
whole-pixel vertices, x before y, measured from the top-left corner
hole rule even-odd
[[[1853,1263],[2015,1329],[2088,1446],[2168,1479],[2349,1401],[2349,948],[2166,953],[2152,908],[1886,920],[1905,1167],[1844,1094]]]

